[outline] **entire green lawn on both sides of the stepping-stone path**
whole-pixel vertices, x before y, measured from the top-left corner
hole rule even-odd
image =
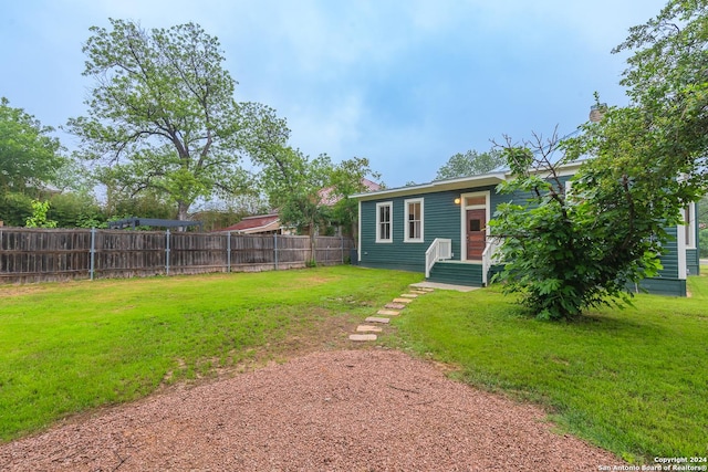
[[[220,367],[351,347],[357,323],[420,280],[337,266],[0,286],[0,440]],[[705,457],[708,276],[689,290],[564,324],[529,317],[496,287],[436,291],[383,342],[543,405],[562,430],[627,460]]]

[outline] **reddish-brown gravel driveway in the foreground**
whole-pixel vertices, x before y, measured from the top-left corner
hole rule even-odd
[[[596,471],[539,408],[395,350],[332,350],[67,420],[2,471]]]

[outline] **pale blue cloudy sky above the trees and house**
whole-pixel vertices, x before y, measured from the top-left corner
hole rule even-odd
[[[611,54],[664,0],[3,0],[0,96],[44,125],[85,115],[81,46],[108,18],[199,23],[221,42],[237,99],[288,119],[291,144],[367,157],[388,187],[435,178],[503,134],[561,135],[593,92],[627,103]],[[60,135],[72,148],[71,137]]]

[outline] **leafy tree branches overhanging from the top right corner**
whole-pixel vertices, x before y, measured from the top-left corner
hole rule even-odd
[[[621,84],[638,109],[662,171],[706,186],[708,165],[708,2],[670,0],[633,27],[614,53],[632,52]],[[633,112],[626,112],[633,113]],[[637,122],[639,118],[637,118]]]

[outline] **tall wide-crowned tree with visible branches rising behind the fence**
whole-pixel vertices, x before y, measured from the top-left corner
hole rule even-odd
[[[111,25],[91,28],[83,46],[83,74],[95,86],[88,115],[67,124],[81,157],[102,167],[105,182],[166,196],[181,220],[197,198],[247,190],[241,158],[251,128],[273,113],[235,101],[219,41],[195,23]]]

